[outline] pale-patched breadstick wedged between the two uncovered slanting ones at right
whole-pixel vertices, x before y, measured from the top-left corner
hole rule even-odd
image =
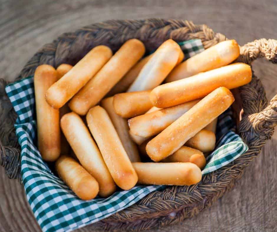
[[[199,101],[194,100],[133,117],[128,120],[130,131],[133,135],[145,138],[157,135]]]

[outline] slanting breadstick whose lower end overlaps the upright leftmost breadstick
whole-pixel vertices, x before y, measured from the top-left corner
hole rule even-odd
[[[53,84],[46,92],[46,101],[58,109],[65,105],[111,58],[107,46],[93,48],[67,74]]]

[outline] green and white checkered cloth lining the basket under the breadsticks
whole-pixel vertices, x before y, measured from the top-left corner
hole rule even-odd
[[[186,57],[203,50],[202,44],[197,45],[198,50],[193,45],[199,41],[182,44]],[[133,205],[153,191],[166,188],[161,185],[135,186],[128,191],[117,191],[108,198],[80,200],[52,173],[37,150],[33,77],[7,85],[6,93],[18,114],[14,126],[21,146],[21,174],[25,192],[42,231],[71,231],[83,227]],[[220,138],[217,149],[209,156],[210,161],[203,174],[230,163],[248,149],[240,137],[230,131],[231,127],[230,113],[221,115],[217,127]]]

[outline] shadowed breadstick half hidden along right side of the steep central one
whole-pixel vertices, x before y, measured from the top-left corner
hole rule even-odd
[[[136,144],[129,135],[129,127],[127,119],[116,114],[113,108],[113,97],[105,98],[101,101],[101,106],[107,111],[110,116],[116,132],[122,142],[131,162],[140,162],[139,151]]]

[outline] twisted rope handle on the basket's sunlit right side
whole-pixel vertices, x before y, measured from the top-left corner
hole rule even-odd
[[[255,59],[264,57],[273,64],[277,63],[277,40],[258,39],[240,47],[238,62],[251,64]],[[270,139],[277,125],[277,95],[275,95],[268,106],[259,113],[244,117],[240,122],[239,132],[248,144],[255,146],[253,137],[260,140]]]

